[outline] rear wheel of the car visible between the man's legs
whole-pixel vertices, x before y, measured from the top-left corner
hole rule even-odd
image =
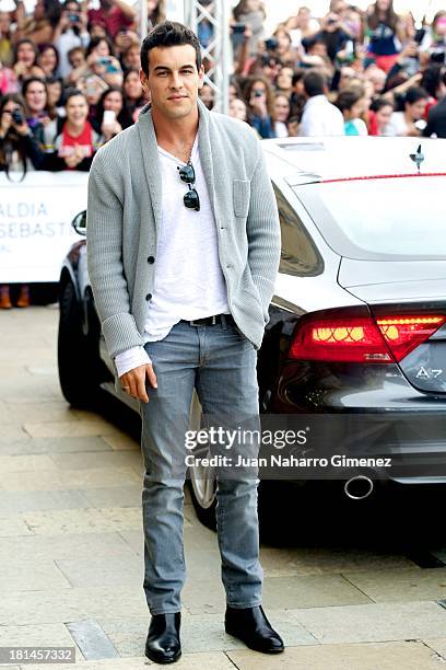
[[[201,406],[197,394],[193,393],[190,408],[189,430],[199,430],[201,427]],[[193,509],[203,525],[215,530],[216,480],[213,467],[191,465],[189,467],[189,489]]]

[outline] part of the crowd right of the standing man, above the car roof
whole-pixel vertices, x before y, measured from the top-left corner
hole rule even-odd
[[[230,113],[262,138],[446,137],[446,10],[418,26],[392,0],[331,0],[319,19],[297,4],[271,36],[265,19],[260,0],[233,11],[230,90]]]

